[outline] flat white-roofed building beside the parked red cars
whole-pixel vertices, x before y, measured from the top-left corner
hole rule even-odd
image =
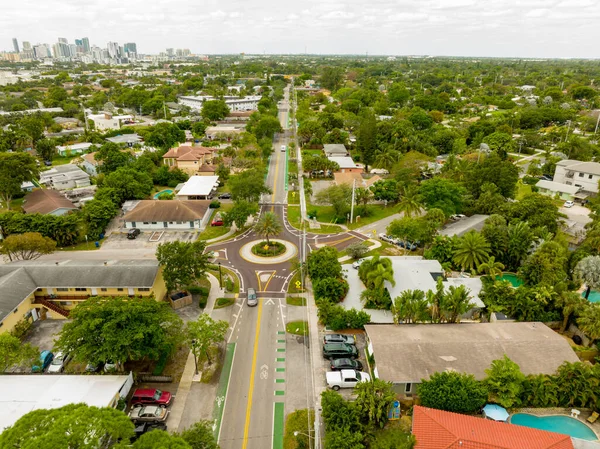
[[[0,382],[0,432],[23,415],[69,404],[115,407],[126,398],[133,376],[14,375]]]

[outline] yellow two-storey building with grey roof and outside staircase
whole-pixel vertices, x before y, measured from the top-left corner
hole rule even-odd
[[[64,319],[91,296],[154,297],[166,287],[155,260],[29,260],[0,265],[0,332],[21,320]]]

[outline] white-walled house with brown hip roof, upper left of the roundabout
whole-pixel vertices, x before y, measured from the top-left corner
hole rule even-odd
[[[142,200],[123,217],[125,228],[185,230],[202,229],[212,209],[210,201]]]

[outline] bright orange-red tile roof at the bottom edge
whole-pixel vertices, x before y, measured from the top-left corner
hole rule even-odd
[[[415,449],[573,449],[571,437],[416,405]]]

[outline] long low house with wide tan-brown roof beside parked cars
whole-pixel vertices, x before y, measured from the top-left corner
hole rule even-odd
[[[525,375],[554,374],[562,363],[579,361],[567,340],[539,322],[369,324],[365,331],[375,376],[409,397],[436,372],[483,380],[491,363],[505,355]]]

